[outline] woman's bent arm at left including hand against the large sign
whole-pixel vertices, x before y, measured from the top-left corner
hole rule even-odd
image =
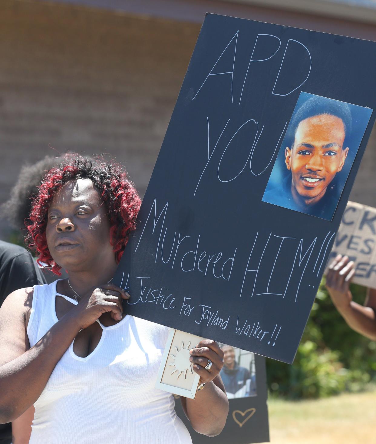
[[[107,295],[106,289],[119,296]],[[15,420],[35,403],[55,365],[81,329],[106,312],[121,318],[121,298],[128,299],[129,295],[115,285],[95,288],[31,348],[25,306],[30,305],[32,289],[16,290],[6,298],[0,309],[0,423]]]

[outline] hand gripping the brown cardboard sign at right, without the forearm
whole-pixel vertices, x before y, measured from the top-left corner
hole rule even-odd
[[[354,262],[349,261],[347,256],[338,254],[329,265],[329,271],[326,276],[326,288],[333,304],[338,308],[347,306],[352,301],[349,285],[354,274]]]

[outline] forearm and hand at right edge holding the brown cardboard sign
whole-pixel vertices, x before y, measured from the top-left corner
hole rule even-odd
[[[354,263],[347,256],[338,255],[329,266],[326,287],[333,304],[350,328],[376,340],[376,290],[368,289],[365,306],[352,300],[349,284],[355,273]]]

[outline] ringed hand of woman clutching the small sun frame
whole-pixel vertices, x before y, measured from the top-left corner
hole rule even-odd
[[[189,351],[191,357],[189,361],[193,362],[193,371],[200,375],[200,382],[207,383],[213,381],[219,375],[223,367],[223,351],[218,342],[204,339],[196,347]],[[205,369],[212,362],[210,369]]]

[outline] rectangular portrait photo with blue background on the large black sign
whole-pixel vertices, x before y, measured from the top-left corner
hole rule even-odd
[[[371,114],[302,92],[262,201],[332,220]]]

